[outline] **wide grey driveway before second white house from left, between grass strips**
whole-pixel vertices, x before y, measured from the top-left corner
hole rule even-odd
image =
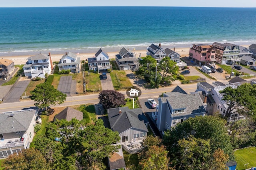
[[[67,96],[73,96],[76,94],[76,80],[72,80],[72,76],[61,76],[58,88],[60,92]]]

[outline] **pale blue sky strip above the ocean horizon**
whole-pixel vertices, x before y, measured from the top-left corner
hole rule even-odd
[[[0,0],[0,2],[0,7],[193,6],[256,8],[256,0]]]

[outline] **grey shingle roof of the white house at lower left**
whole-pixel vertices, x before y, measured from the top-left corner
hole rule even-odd
[[[0,114],[0,133],[27,131],[36,110]],[[13,114],[13,116],[10,116]],[[9,116],[9,117],[8,117]]]

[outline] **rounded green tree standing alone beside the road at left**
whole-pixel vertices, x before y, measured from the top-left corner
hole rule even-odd
[[[41,83],[36,85],[36,88],[30,92],[31,100],[34,100],[35,106],[45,108],[48,115],[50,105],[62,104],[65,102],[67,95],[55,89],[52,85]]]

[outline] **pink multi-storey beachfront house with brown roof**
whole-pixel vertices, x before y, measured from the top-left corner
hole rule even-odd
[[[189,49],[189,59],[198,66],[209,65],[215,66],[216,49],[208,44],[193,44]]]

